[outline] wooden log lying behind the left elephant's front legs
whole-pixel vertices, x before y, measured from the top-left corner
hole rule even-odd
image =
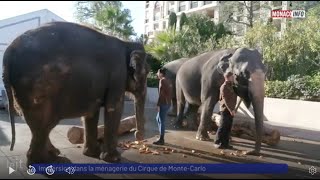
[[[136,117],[129,116],[120,121],[118,135],[122,135],[126,132],[131,131],[131,129],[136,127]],[[104,136],[104,125],[98,126],[98,137],[97,139],[103,139]],[[72,144],[82,144],[84,143],[84,128],[73,126],[68,130],[67,133],[68,140]]]

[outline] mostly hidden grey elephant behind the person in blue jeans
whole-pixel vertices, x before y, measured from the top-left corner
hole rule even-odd
[[[183,63],[185,63],[189,58],[180,58],[174,61],[171,61],[163,66],[166,70],[165,77],[171,81],[172,84],[172,109],[168,113],[170,116],[177,115],[177,98],[176,98],[176,75]]]

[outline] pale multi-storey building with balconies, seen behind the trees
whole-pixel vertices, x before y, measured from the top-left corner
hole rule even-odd
[[[186,15],[191,13],[203,13],[212,18],[215,23],[225,20],[226,14],[224,14],[223,5],[225,1],[146,1],[145,2],[145,22],[144,32],[149,36],[149,39],[153,39],[154,35],[163,31],[168,27],[169,14],[175,12],[177,15],[177,29],[179,29],[180,16],[182,12]],[[234,1],[235,2],[235,1]],[[245,22],[248,15],[248,10],[242,4],[249,1],[235,2],[234,16],[237,21]],[[267,22],[271,17],[271,10],[288,10],[295,9],[293,6],[294,1],[253,1],[254,5],[253,20],[261,19],[263,22]],[[307,1],[306,1],[307,2]],[[298,2],[300,5],[307,5],[315,1]],[[304,4],[305,3],[305,4]],[[265,8],[268,7],[268,8]],[[301,9],[300,6],[298,9]],[[241,13],[239,13],[241,12]],[[290,19],[273,19],[272,23],[277,27],[278,34],[281,35],[286,28],[286,22]],[[241,23],[229,23],[229,28],[238,35],[243,35],[247,26]]]

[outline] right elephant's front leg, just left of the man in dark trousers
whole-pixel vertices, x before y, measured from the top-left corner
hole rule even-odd
[[[219,95],[211,96],[205,99],[201,107],[200,125],[196,139],[200,141],[210,140],[208,135],[209,122],[211,119],[212,111],[218,101]]]

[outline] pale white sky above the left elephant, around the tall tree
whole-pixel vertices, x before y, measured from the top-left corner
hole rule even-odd
[[[124,8],[131,11],[132,26],[140,35],[144,33],[144,1],[122,1]],[[75,1],[0,1],[0,20],[21,14],[48,9],[66,21],[76,22],[74,18]]]

